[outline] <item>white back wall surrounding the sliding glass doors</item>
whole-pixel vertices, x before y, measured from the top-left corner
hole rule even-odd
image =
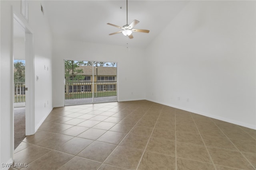
[[[121,46],[54,40],[53,106],[64,106],[64,59],[109,61],[118,63],[118,100],[145,98],[144,50]]]

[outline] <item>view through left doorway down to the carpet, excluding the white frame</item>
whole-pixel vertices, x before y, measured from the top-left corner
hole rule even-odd
[[[26,137],[26,92],[25,92],[25,29],[14,20],[13,29],[14,73],[14,150]]]

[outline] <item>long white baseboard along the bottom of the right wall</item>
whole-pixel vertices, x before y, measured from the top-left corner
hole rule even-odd
[[[175,105],[167,104],[167,103],[164,103],[164,102],[159,102],[159,101],[150,100],[150,99],[146,99],[146,100],[151,101],[151,102],[155,102],[155,103],[158,103],[158,104],[163,104],[163,105],[166,105],[166,106],[174,107],[176,109],[181,109],[181,110],[189,111],[189,112],[196,113],[196,114],[199,114],[199,115],[211,117],[213,119],[218,119],[218,120],[221,120],[221,121],[226,121],[228,123],[233,123],[233,124],[236,124],[236,125],[240,125],[240,126],[243,126],[243,127],[248,127],[250,129],[255,129],[256,130],[256,127],[254,125],[250,125],[250,124],[243,123],[243,122],[240,122],[240,121],[236,121],[236,120],[232,120],[232,119],[227,119],[225,117],[220,117],[220,116],[204,113],[202,111],[197,111],[197,110],[188,109],[188,108],[184,108],[184,107],[180,107],[180,106],[175,106]]]

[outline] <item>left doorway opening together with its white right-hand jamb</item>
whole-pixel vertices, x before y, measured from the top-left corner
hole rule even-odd
[[[12,148],[16,149],[24,137],[35,133],[34,46],[33,34],[28,23],[15,11],[13,11],[12,26]],[[17,116],[16,113],[20,115]],[[22,135],[19,130],[22,130]]]

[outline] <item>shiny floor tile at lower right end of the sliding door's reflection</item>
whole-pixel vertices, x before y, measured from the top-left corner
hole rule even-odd
[[[126,133],[107,131],[106,133],[104,133],[104,135],[99,137],[97,141],[118,145],[125,136]]]

